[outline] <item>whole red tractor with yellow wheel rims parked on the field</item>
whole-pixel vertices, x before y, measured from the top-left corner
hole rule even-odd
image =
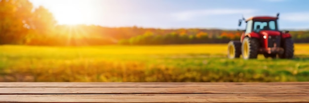
[[[247,20],[246,30],[243,31],[240,41],[230,41],[228,45],[228,57],[230,59],[256,59],[258,54],[263,54],[265,58],[292,59],[294,57],[294,43],[289,31],[279,31],[276,17],[257,16]]]

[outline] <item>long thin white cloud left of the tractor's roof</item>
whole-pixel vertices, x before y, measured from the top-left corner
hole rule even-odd
[[[189,10],[172,14],[178,21],[188,21],[199,16],[213,16],[213,15],[231,15],[231,14],[250,14],[254,13],[254,9],[203,9],[203,10]]]

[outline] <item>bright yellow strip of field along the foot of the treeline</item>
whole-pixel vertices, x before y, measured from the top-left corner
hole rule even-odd
[[[158,46],[86,46],[86,47],[45,47],[45,46],[0,46],[1,54],[227,54],[227,44],[158,45]],[[55,53],[57,52],[57,53]],[[295,44],[295,55],[309,55],[309,44]]]

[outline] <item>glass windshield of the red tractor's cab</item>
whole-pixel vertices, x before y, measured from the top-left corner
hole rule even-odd
[[[253,24],[253,31],[259,33],[262,30],[277,31],[277,22],[271,21],[255,21]]]

